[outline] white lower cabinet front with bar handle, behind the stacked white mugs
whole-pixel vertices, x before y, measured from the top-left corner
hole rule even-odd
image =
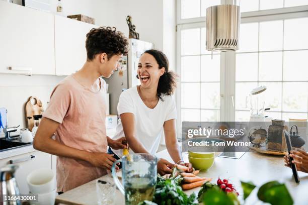
[[[11,161],[12,160],[12,161]],[[35,151],[0,160],[0,167],[10,164],[19,165],[15,177],[21,194],[28,194],[27,176],[39,168],[51,169],[51,154]]]

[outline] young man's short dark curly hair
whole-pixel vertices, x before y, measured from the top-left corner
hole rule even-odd
[[[86,40],[87,59],[93,60],[95,55],[106,53],[108,58],[113,55],[128,53],[128,40],[115,27],[100,27],[91,29]]]

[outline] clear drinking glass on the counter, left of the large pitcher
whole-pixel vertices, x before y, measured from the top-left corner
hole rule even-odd
[[[114,204],[116,185],[112,177],[96,180],[98,204]]]

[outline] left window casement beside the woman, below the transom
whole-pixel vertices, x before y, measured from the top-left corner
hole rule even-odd
[[[205,50],[205,27],[181,29],[181,119],[218,121],[220,55]]]

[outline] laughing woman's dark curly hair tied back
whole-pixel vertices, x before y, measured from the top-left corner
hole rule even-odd
[[[165,68],[165,73],[160,77],[157,87],[157,96],[163,100],[162,94],[172,95],[174,93],[174,90],[177,87],[178,75],[172,71],[169,71],[169,60],[162,51],[151,49],[144,51],[144,53],[153,56],[159,64],[160,69],[163,67]]]

